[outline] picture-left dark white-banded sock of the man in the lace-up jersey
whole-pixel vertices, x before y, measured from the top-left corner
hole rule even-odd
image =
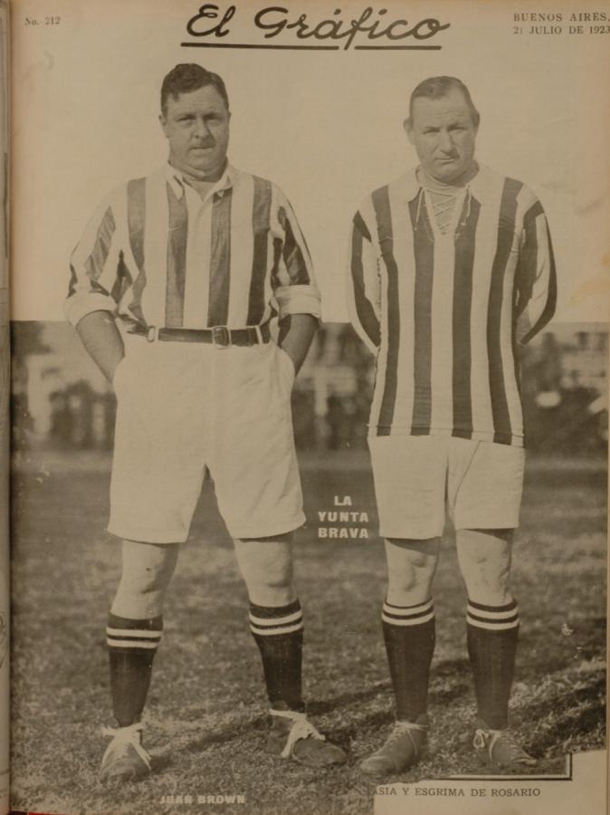
[[[394,606],[386,601],[381,620],[396,697],[396,719],[415,722],[428,705],[435,642],[432,598],[415,606]]]

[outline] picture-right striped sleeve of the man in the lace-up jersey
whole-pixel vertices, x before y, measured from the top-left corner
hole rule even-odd
[[[516,270],[515,338],[525,345],[547,325],[557,306],[557,272],[547,216],[536,200],[523,218]]]

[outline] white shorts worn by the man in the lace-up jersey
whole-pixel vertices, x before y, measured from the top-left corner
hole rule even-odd
[[[379,533],[425,540],[519,526],[525,450],[450,436],[369,436]]]

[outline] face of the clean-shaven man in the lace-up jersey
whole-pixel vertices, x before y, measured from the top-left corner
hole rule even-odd
[[[405,130],[422,167],[437,181],[451,184],[471,166],[477,128],[462,91],[415,99]]]

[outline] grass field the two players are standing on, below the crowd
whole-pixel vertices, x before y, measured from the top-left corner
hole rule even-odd
[[[231,542],[205,489],[166,606],[166,633],[146,714],[156,772],[108,790],[98,781],[110,723],[104,627],[119,577],[118,544],[102,532],[106,459],[24,462],[14,479],[15,809],[45,812],[367,813],[375,785],[358,761],[384,738],[392,698],[380,638],[384,563],[372,484],[361,455],[329,466],[301,456],[310,525],[297,535],[305,610],[305,690],[320,729],[350,753],[319,774],[262,752],[266,707],[246,593]],[[317,538],[333,496],[370,513],[369,541]],[[605,471],[547,463],[529,469],[515,546],[521,636],[512,723],[539,772],[605,739]],[[435,583],[430,757],[400,780],[481,773],[472,756],[473,694],[465,595],[451,535]],[[396,781],[398,779],[390,779]],[[167,795],[241,794],[245,805],[176,806]]]

